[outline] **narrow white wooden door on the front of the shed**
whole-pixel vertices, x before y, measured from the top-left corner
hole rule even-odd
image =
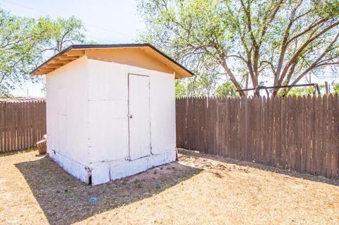
[[[150,77],[129,74],[129,157],[150,155]]]

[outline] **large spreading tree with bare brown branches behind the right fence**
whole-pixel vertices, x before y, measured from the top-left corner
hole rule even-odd
[[[238,90],[239,78],[254,87],[265,77],[296,84],[339,63],[335,0],[141,0],[138,11],[146,23],[141,39],[190,68],[208,61]]]

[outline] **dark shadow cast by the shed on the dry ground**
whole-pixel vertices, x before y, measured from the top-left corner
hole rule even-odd
[[[50,224],[73,224],[131,202],[143,200],[198,174],[202,169],[177,162],[100,186],[88,186],[48,157],[15,164]],[[90,202],[89,197],[97,197]]]

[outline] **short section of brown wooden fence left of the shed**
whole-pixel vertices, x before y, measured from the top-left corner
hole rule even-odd
[[[0,102],[0,152],[35,147],[46,133],[46,102]]]

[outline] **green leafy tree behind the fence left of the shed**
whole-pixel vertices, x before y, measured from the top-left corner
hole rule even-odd
[[[42,63],[44,53],[83,42],[81,30],[81,22],[75,18],[25,18],[0,8],[0,96],[10,96],[14,85],[25,80],[40,80],[30,71]]]

